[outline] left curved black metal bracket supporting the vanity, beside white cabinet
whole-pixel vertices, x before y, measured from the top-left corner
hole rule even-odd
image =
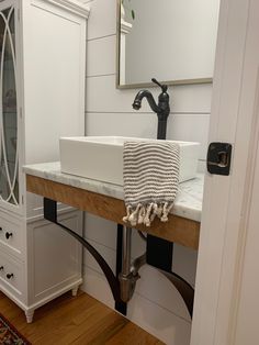
[[[114,276],[112,269],[108,265],[108,263],[104,260],[104,258],[98,253],[98,251],[83,237],[78,235],[76,232],[70,230],[69,227],[60,224],[57,221],[57,202],[47,198],[44,198],[44,218],[48,220],[49,222],[55,223],[56,225],[64,229],[69,235],[75,237],[77,241],[79,241],[85,248],[88,249],[88,252],[94,257],[94,259],[98,261],[99,266],[101,267],[104,276],[106,277],[106,280],[110,285],[110,288],[112,290],[112,294],[115,301],[116,310],[125,314],[125,303],[121,300],[121,290],[120,290],[120,282]]]

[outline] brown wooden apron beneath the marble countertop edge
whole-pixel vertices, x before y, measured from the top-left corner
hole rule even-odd
[[[123,200],[31,175],[26,175],[26,189],[30,192],[123,224],[122,218],[125,215]],[[166,223],[156,219],[150,227],[137,225],[135,229],[193,249],[198,249],[199,246],[200,223],[173,214],[169,215],[169,221]]]

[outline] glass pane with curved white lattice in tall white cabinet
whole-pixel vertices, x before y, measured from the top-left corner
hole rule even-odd
[[[0,11],[0,200],[19,204],[14,8]]]

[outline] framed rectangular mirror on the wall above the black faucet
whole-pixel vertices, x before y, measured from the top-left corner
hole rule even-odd
[[[117,0],[117,87],[211,82],[219,0]]]

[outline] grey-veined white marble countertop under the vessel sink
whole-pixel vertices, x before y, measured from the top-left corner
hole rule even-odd
[[[64,174],[60,170],[59,162],[27,165],[23,167],[23,170],[27,175],[124,200],[122,186]],[[203,183],[204,176],[202,174],[198,174],[196,178],[192,180],[180,183],[172,213],[200,222],[202,214]]]

